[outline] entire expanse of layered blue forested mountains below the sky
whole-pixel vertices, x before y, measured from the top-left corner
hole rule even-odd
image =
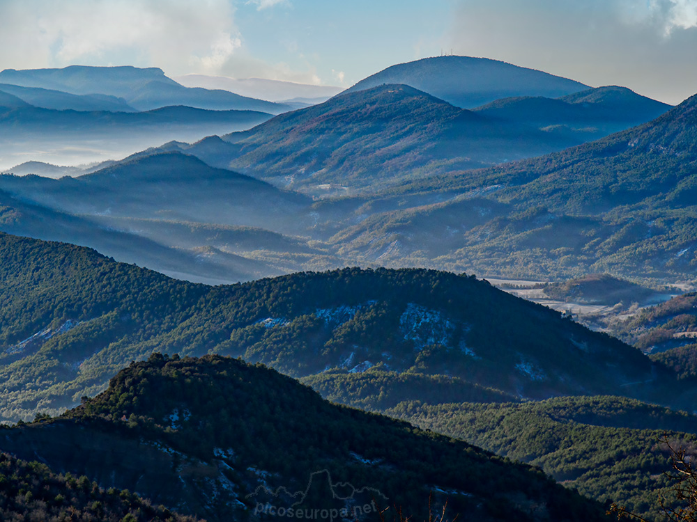
[[[68,138],[240,112],[142,110],[239,101],[157,69],[0,82],[5,128]],[[18,168],[75,177],[0,176],[0,518],[680,506],[662,473],[668,444],[694,454],[697,298],[639,308],[694,279],[695,98],[454,56],[361,83],[242,132]],[[622,315],[591,331],[473,270]]]

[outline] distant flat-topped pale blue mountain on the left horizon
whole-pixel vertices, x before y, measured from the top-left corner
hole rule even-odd
[[[124,67],[86,67],[71,65],[63,69],[6,69],[0,82],[22,87],[62,90],[77,95],[109,95],[123,98],[139,111],[164,106],[185,105],[209,110],[245,110],[279,113],[282,104],[254,100],[224,90],[186,88],[164,75],[161,69]]]

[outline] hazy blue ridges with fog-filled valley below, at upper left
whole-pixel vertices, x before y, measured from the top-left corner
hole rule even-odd
[[[186,88],[160,69],[0,72],[0,169],[122,158],[171,140],[249,129],[291,109],[227,90]]]

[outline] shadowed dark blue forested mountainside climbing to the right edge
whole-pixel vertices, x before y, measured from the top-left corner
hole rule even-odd
[[[550,209],[576,214],[608,212],[620,205],[687,207],[697,153],[696,108],[697,95],[651,122],[604,139],[542,158],[452,175],[447,181],[436,177],[429,185],[461,190],[498,183],[503,191],[516,191],[516,196],[507,194],[507,200],[544,202]]]

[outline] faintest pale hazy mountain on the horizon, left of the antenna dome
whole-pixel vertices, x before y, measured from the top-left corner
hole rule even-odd
[[[286,102],[295,98],[305,98],[321,103],[344,90],[342,87],[328,85],[298,84],[293,81],[262,78],[233,79],[222,76],[206,76],[205,74],[186,74],[174,77],[174,80],[185,87],[229,90],[231,93],[269,100],[270,102]]]

